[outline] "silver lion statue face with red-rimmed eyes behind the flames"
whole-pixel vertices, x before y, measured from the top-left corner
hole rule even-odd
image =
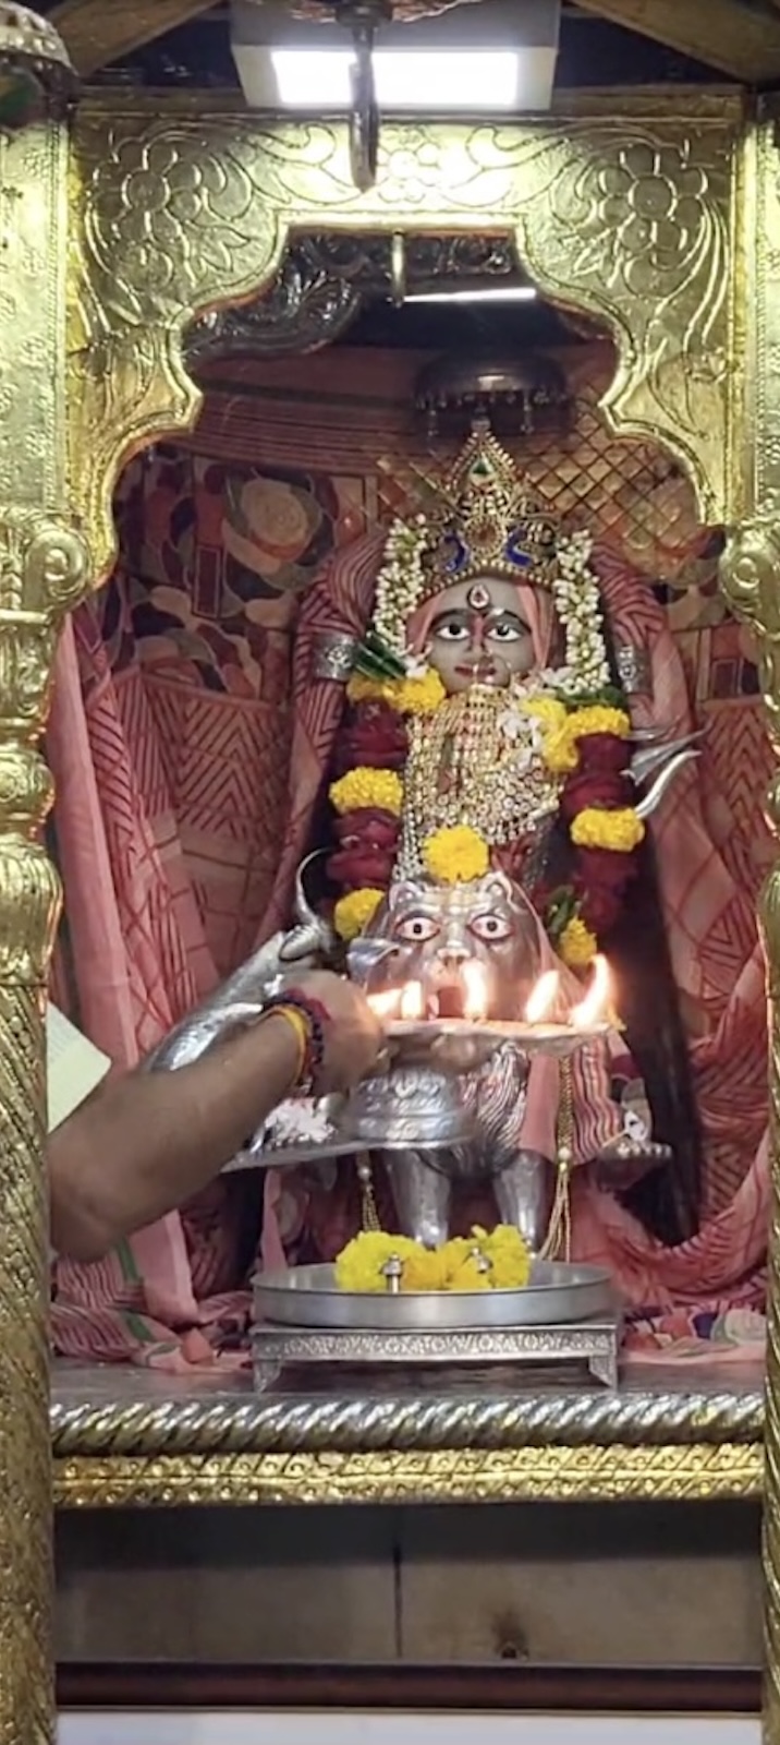
[[[420,982],[428,1016],[463,1016],[468,963],[482,965],[488,1016],[498,1019],[522,1012],[540,972],[536,916],[503,872],[468,885],[402,879],[390,886],[369,935],[392,946],[371,989]]]

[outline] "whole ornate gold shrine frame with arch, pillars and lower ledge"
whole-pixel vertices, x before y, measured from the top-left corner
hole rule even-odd
[[[0,1398],[12,1403],[0,1454],[0,1735],[9,1742],[45,1738],[52,1708],[42,993],[57,886],[38,846],[50,784],[37,745],[57,625],[110,569],[122,464],[197,415],[181,340],[198,312],[256,295],[296,230],[467,232],[477,223],[482,234],[515,230],[538,286],[609,326],[620,366],[606,417],[618,433],[663,441],[688,469],[702,518],[730,527],[723,581],[757,632],[777,738],[780,181],[770,117],[723,91],[644,91],[588,94],[522,126],[387,126],[367,194],[352,183],[340,126],[258,126],[233,103],[113,92],[87,99],[70,131],[49,119],[0,136]],[[770,808],[780,820],[780,785]],[[763,920],[777,991],[777,872]],[[777,1021],[771,1099],[777,1122]],[[773,1740],[778,1208],[775,1192]],[[721,1399],[721,1415],[696,1396],[684,1410],[667,1401],[653,1422],[637,1399],[611,1429],[550,1419],[543,1431],[533,1410],[512,1415],[507,1403],[491,1434],[482,1427],[470,1440],[468,1426],[442,1420],[434,1443],[413,1429],[404,1443],[376,1440],[367,1420],[336,1431],[312,1410],[303,1447],[292,1424],[277,1422],[272,1434],[259,1406],[247,1429],[245,1401],[239,1406],[204,1403],[200,1429],[181,1401],[178,1413],[131,1398],[96,1403],[92,1413],[57,1406],[57,1501],[714,1497],[761,1487],[757,1396],[749,1410]]]

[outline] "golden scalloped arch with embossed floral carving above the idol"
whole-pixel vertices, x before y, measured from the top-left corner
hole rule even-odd
[[[374,188],[336,124],[259,126],[192,103],[87,103],[73,136],[70,482],[98,572],[132,450],[193,422],[181,340],[207,307],[268,284],[292,230],[517,234],[540,290],[606,321],[616,433],[655,436],[705,520],[731,510],[742,99],[639,99],[514,126],[387,126]]]

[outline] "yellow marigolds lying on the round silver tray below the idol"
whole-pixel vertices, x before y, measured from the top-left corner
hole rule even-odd
[[[491,1234],[475,1225],[472,1239],[458,1235],[432,1249],[409,1235],[362,1230],[336,1258],[338,1288],[387,1291],[388,1260],[400,1260],[402,1291],[507,1291],[522,1290],[531,1277],[529,1249],[512,1225],[500,1223]]]

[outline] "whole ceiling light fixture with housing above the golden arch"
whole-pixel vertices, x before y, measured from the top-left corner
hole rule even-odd
[[[468,120],[550,106],[561,0],[481,0],[406,23],[402,10],[404,0],[322,0],[322,23],[313,23],[279,0],[232,0],[249,108],[348,115],[355,180],[369,187],[380,108]]]

